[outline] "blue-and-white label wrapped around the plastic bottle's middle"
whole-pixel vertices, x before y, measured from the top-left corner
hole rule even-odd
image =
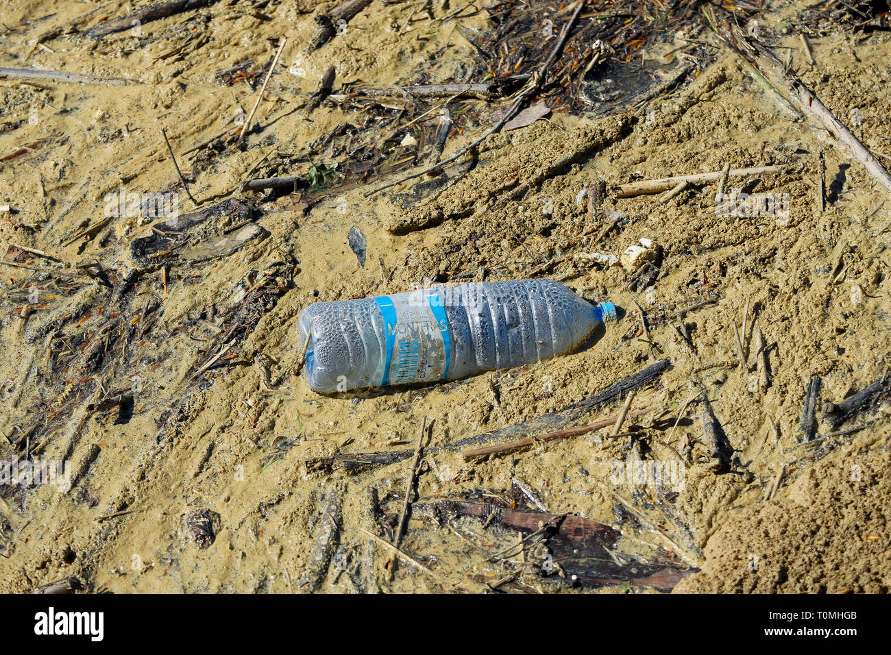
[[[452,340],[437,291],[397,293],[375,301],[384,317],[387,336],[379,384],[445,380]]]

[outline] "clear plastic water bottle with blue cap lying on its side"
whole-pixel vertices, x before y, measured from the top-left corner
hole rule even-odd
[[[576,348],[616,307],[552,280],[471,282],[392,296],[317,302],[298,318],[316,391],[455,380]]]

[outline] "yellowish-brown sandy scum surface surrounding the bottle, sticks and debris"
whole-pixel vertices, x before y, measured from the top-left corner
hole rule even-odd
[[[813,442],[802,443],[799,427],[813,376],[822,379],[821,404],[838,403],[891,364],[891,203],[846,151],[777,102],[748,64],[710,45],[680,85],[642,107],[605,116],[593,105],[557,111],[492,136],[475,168],[421,201],[411,184],[366,198],[395,178],[357,183],[351,152],[366,152],[368,139],[383,151],[395,135],[402,145],[388,146],[385,159],[404,159],[408,128],[399,126],[411,115],[394,119],[390,135],[378,128],[378,110],[328,101],[307,111],[319,78],[333,65],[335,91],[465,81],[476,60],[457,26],[485,31],[495,4],[441,20],[459,5],[435,3],[434,23],[415,16],[413,4],[375,0],[313,53],[304,52],[315,35],[311,3],[254,5],[215,4],[96,41],[66,30],[127,15],[133,4],[6,3],[2,65],[132,83],[0,81],[0,201],[11,209],[0,214],[0,258],[56,271],[0,270],[0,454],[68,462],[72,482],[67,492],[0,485],[0,590],[29,592],[75,576],[87,590],[125,593],[653,591],[574,585],[533,541],[518,568],[516,558],[493,557],[516,543],[516,531],[423,511],[437,499],[527,506],[514,487],[520,480],[548,512],[617,528],[617,561],[698,569],[685,571],[675,591],[888,591],[887,395],[840,426],[818,405]],[[762,30],[789,49],[792,70],[839,118],[855,117],[852,129],[867,147],[891,152],[891,37],[813,34],[812,66],[797,33],[782,27],[795,16],[790,8],[765,13]],[[564,8],[558,25],[567,17]],[[255,119],[262,129],[246,135],[243,150],[208,147],[249,113],[282,36],[289,44]],[[650,56],[685,45],[685,36],[669,35]],[[656,61],[656,83],[666,61]],[[243,62],[259,73],[256,88],[218,75]],[[432,105],[419,106],[416,113]],[[486,129],[496,106],[465,102],[445,155]],[[338,134],[348,138],[317,141],[344,124]],[[425,143],[436,125],[433,112],[409,132]],[[142,258],[133,242],[159,235],[151,225],[169,217],[106,220],[109,196],[121,189],[178,193],[180,214],[195,209],[162,128],[192,195],[207,201],[201,208],[240,198],[262,228],[254,238],[233,242],[240,215],[229,212],[200,226],[191,250]],[[307,176],[307,151],[347,178],[323,193],[241,192],[250,178]],[[714,184],[667,201],[614,192],[728,162],[788,165],[728,184],[777,194],[781,210],[716,215]],[[607,188],[601,213],[582,194],[598,179]],[[602,233],[614,212],[621,216]],[[354,227],[367,240],[364,266],[347,245]],[[222,236],[230,241],[221,245]],[[642,238],[660,249],[651,273],[587,257],[619,255]],[[293,375],[297,316],[312,302],[528,276],[610,299],[626,315],[576,354],[429,388],[327,397]],[[648,315],[651,344],[635,301]],[[750,352],[740,366],[734,326],[743,329],[747,305]],[[766,378],[750,339],[755,314]],[[666,358],[666,373],[637,393],[635,405],[651,411],[634,419],[639,438],[630,448],[607,428],[484,459],[423,455],[418,510],[401,548],[426,569],[393,561],[363,531],[392,539],[408,461],[356,472],[319,463],[413,448],[425,420],[429,446],[503,428]],[[713,465],[701,407],[686,405],[697,381],[732,446],[725,471]],[[132,394],[132,403],[103,403],[116,393]],[[683,463],[683,485],[666,493],[617,482],[613,463],[628,458]]]

